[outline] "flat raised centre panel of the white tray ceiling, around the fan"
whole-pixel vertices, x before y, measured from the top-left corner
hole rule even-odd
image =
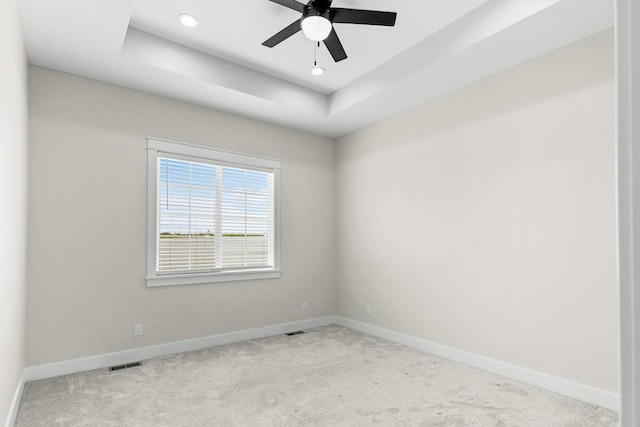
[[[335,0],[336,7],[391,10],[398,13],[398,19],[395,28],[336,24],[336,32],[349,58],[334,63],[327,49],[321,46],[318,61],[328,70],[322,77],[309,72],[315,45],[302,32],[273,49],[262,46],[263,41],[300,18],[300,13],[268,0],[137,0],[129,25],[329,94],[487,1]],[[202,17],[202,25],[194,29],[180,25],[176,16],[185,10]]]

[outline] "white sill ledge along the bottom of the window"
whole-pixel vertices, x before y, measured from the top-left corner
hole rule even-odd
[[[218,273],[187,273],[147,276],[147,287],[196,285],[202,283],[235,282],[244,280],[278,279],[281,270],[223,271]]]

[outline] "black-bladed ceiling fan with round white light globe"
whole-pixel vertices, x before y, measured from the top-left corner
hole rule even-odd
[[[318,43],[324,41],[325,46],[329,49],[329,53],[331,53],[335,62],[346,59],[347,53],[342,47],[336,30],[333,28],[333,24],[363,24],[393,27],[396,23],[397,14],[395,12],[331,7],[332,0],[309,0],[307,4],[299,3],[296,0],[270,1],[300,12],[302,16],[263,42],[263,46],[274,47],[302,30],[307,38]]]

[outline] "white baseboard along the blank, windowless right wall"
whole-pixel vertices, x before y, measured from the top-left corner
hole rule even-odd
[[[442,356],[447,359],[455,360],[457,362],[464,363],[465,365],[493,372],[507,378],[512,378],[526,384],[563,394],[565,396],[611,409],[616,412],[619,412],[620,410],[620,396],[615,393],[578,384],[562,378],[553,377],[551,375],[511,365],[488,357],[479,356],[477,354],[468,353],[466,351],[447,347],[421,338],[373,326],[368,323],[357,322],[341,316],[336,317],[336,323],[338,325],[355,331],[393,341],[398,344]]]

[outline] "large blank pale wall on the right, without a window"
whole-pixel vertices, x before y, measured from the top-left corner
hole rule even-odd
[[[605,32],[339,139],[339,314],[617,393],[613,53]]]

